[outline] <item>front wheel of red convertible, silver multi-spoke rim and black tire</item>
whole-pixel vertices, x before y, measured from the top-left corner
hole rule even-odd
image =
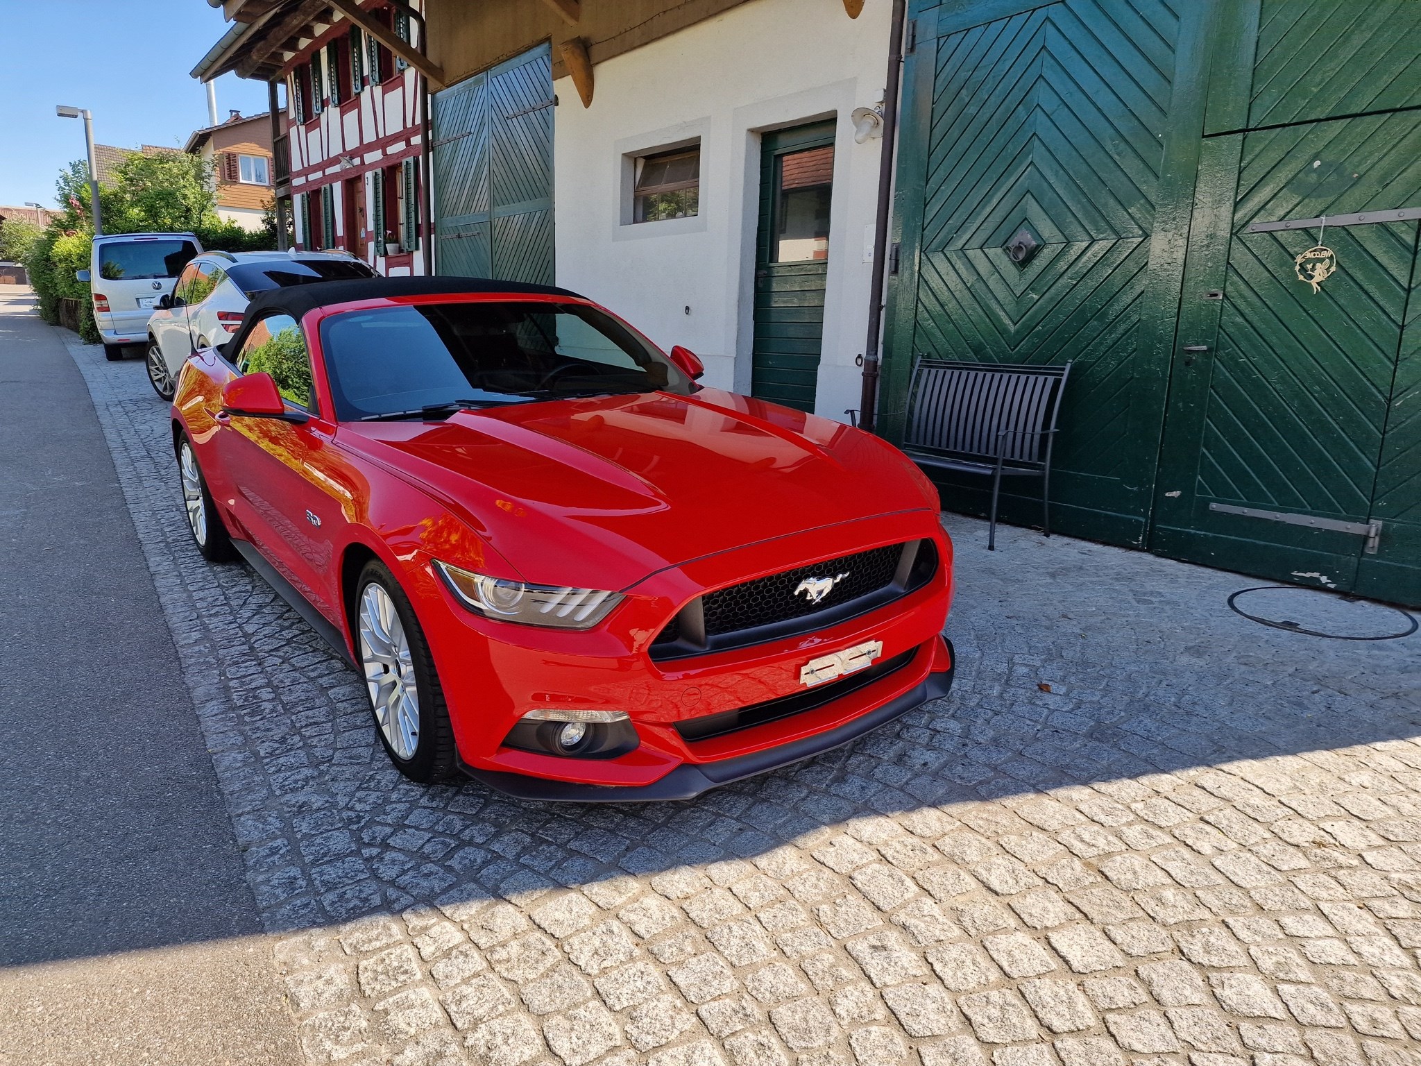
[[[394,574],[374,559],[355,583],[354,615],[355,657],[389,760],[421,785],[459,780],[453,728],[425,632]]]

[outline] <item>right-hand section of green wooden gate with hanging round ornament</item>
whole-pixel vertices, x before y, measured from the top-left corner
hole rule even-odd
[[[1421,208],[1421,112],[1393,109],[1421,104],[1421,4],[1229,14],[1258,44],[1214,72],[1150,546],[1421,603],[1421,223],[1397,217]],[[1314,291],[1295,260],[1319,243]]]

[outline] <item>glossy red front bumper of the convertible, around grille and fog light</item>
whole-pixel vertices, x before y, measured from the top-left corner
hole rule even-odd
[[[665,661],[649,657],[649,647],[666,620],[703,590],[914,537],[936,542],[941,569],[926,586],[899,600],[823,630],[752,647]],[[855,723],[865,715],[899,705],[928,682],[929,674],[946,671],[951,661],[941,634],[951,600],[951,560],[952,549],[936,513],[872,516],[659,571],[630,588],[627,603],[605,623],[577,632],[476,615],[453,600],[426,559],[416,559],[406,587],[421,604],[421,623],[439,671],[459,758],[470,775],[514,795],[576,796],[591,789],[585,795],[603,800],[654,799],[696,795],[715,783],[844,743],[858,735]],[[904,655],[912,659],[823,705],[773,718],[756,715],[759,723],[698,738],[679,728],[689,721],[705,722],[803,694],[801,671],[807,662],[870,641],[880,644],[884,662]],[[915,706],[925,698],[908,704]],[[506,746],[509,731],[536,708],[625,711],[639,743],[608,758]],[[821,739],[841,735],[844,739],[836,742]],[[742,766],[747,769],[736,769]],[[539,780],[524,782],[524,777]]]

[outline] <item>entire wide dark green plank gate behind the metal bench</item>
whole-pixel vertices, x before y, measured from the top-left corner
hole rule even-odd
[[[885,431],[915,355],[1070,360],[1063,529],[1421,603],[1421,223],[1376,215],[1421,208],[1421,3],[915,16]],[[1366,212],[1320,293],[1316,227],[1266,226]]]

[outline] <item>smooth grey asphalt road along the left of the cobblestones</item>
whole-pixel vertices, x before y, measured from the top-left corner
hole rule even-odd
[[[0,1062],[290,1060],[114,463],[30,303],[0,287]]]

